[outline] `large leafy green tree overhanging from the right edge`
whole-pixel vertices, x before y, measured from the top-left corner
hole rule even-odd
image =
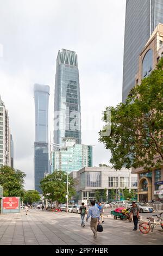
[[[130,91],[126,102],[105,109],[106,125],[99,132],[99,141],[111,151],[110,162],[116,170],[123,166],[149,170],[163,164],[162,67],[161,58],[157,69]],[[106,118],[108,111],[111,122]],[[103,136],[108,125],[110,136]]]

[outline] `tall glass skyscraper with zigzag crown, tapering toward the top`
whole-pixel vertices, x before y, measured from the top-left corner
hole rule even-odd
[[[64,145],[64,138],[81,143],[80,88],[77,54],[58,52],[54,96],[54,143]]]

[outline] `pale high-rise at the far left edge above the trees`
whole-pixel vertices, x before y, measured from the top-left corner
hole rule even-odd
[[[0,96],[0,167],[2,166],[11,166],[11,149],[8,111]]]

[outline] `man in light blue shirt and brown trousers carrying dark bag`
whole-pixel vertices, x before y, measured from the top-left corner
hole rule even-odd
[[[91,216],[91,223],[90,227],[93,232],[93,237],[97,237],[97,224],[99,224],[99,209],[97,206],[95,206],[95,201],[91,202],[91,208],[89,209],[89,212],[86,217],[86,221],[89,219]]]

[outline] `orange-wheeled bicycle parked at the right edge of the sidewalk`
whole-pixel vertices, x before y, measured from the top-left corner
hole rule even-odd
[[[161,214],[163,214],[163,212],[161,212]],[[149,217],[149,218],[147,218],[147,220],[149,220],[149,222],[142,222],[141,224],[139,224],[139,229],[140,229],[141,233],[148,234],[150,230],[153,232],[153,229],[158,224],[160,224],[161,228],[163,229],[163,219],[161,219],[161,214],[159,214],[160,217],[158,217],[158,215],[152,215],[153,217],[156,216],[158,218],[157,221],[154,221],[153,218]]]

